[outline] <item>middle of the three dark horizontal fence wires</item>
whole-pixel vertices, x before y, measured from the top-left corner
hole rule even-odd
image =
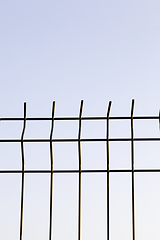
[[[82,138],[80,140],[76,138],[57,138],[52,139],[52,142],[129,142],[132,138]],[[137,141],[160,141],[160,138],[134,138],[134,142]],[[21,142],[21,139],[0,139],[0,142]],[[23,142],[50,142],[50,139],[39,138],[39,139],[24,139]]]

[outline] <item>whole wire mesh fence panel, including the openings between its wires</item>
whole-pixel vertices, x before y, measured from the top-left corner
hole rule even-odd
[[[160,116],[0,118],[0,238],[159,239]]]

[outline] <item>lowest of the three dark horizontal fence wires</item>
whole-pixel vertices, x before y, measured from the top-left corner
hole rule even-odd
[[[25,170],[24,173],[107,173],[107,170],[84,169],[84,170]],[[131,173],[131,169],[110,169],[110,173]],[[135,169],[133,172],[160,172],[160,169]],[[0,170],[0,173],[22,173],[22,170]]]

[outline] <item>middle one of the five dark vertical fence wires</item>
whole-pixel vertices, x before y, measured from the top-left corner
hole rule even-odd
[[[78,132],[78,158],[79,158],[79,189],[78,189],[78,240],[81,240],[81,125],[82,125],[83,100],[81,100],[79,111],[79,132]]]

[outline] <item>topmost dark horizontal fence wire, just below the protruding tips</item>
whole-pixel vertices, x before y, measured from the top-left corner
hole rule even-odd
[[[110,120],[127,120],[131,119],[130,116],[126,117],[109,117]],[[134,116],[133,119],[137,120],[151,120],[159,119],[159,116]],[[23,121],[24,118],[0,118],[0,121]],[[26,121],[51,121],[52,118],[26,118]],[[54,121],[78,121],[79,117],[55,117]],[[82,117],[81,120],[107,120],[107,117]]]

